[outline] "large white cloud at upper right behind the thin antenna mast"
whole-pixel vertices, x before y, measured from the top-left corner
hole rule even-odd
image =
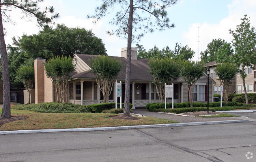
[[[256,1],[254,0],[235,0],[228,5],[228,16],[220,20],[218,24],[194,23],[189,29],[183,32],[182,37],[185,38],[185,44],[188,44],[192,50],[196,51],[194,59],[198,59],[198,27],[199,27],[199,51],[205,51],[207,44],[213,39],[224,39],[231,42],[233,37],[229,33],[229,29],[235,30],[236,25],[241,24],[241,18],[247,14],[250,18],[251,26],[256,25]]]

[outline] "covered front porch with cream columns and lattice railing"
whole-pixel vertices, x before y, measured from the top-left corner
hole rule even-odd
[[[112,93],[108,98],[108,103],[115,103],[115,84],[112,88]],[[182,84],[174,84],[174,103],[181,102]],[[125,83],[122,83],[122,98],[124,102]],[[94,80],[75,80],[68,84],[68,102],[80,105],[101,104],[104,103],[103,94],[99,86]],[[118,97],[118,102],[120,98]],[[159,102],[159,96],[156,93],[154,84],[144,82],[132,82],[130,84],[130,103],[133,104],[133,109],[136,107],[145,107],[148,103]],[[167,103],[172,103],[171,98],[168,98]]]

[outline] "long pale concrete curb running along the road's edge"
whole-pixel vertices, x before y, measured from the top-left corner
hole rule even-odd
[[[254,122],[252,120],[224,120],[212,122],[192,122],[192,123],[177,123],[177,124],[155,124],[142,126],[121,126],[121,127],[94,127],[94,128],[73,128],[73,129],[38,129],[38,130],[19,130],[19,131],[0,131],[0,134],[21,134],[21,133],[50,133],[50,132],[79,132],[79,131],[105,131],[105,130],[121,130],[135,128],[152,128],[152,127],[178,127],[178,126],[197,126],[206,124],[224,124],[238,122]]]

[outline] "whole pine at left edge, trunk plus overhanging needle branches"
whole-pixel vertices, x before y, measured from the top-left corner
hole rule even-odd
[[[1,0],[0,1],[0,53],[1,64],[3,74],[3,109],[1,119],[11,117],[11,99],[10,99],[10,79],[8,70],[7,50],[4,40],[4,25],[3,22],[11,21],[9,13],[13,9],[19,9],[21,11],[22,18],[36,18],[38,25],[43,26],[52,22],[54,18],[58,17],[58,14],[54,14],[53,7],[46,7],[41,9],[38,7],[39,2],[43,0]],[[52,16],[49,17],[49,14]]]

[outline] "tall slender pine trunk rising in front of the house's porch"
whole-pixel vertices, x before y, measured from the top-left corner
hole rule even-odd
[[[127,38],[127,62],[125,73],[125,101],[123,114],[130,116],[130,77],[131,77],[131,50],[132,50],[132,32],[133,32],[133,0],[130,0],[130,11],[128,20],[128,38]]]

